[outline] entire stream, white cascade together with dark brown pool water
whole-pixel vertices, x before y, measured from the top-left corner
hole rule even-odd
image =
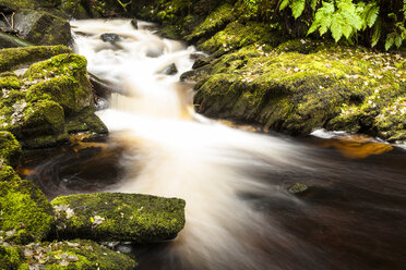
[[[117,91],[98,112],[109,142],[41,154],[31,177],[49,197],[183,198],[184,229],[171,242],[133,246],[139,269],[406,268],[405,150],[345,136],[297,140],[205,119],[193,110],[192,86],[179,82],[193,47],[143,22],[138,29],[129,20],[71,25],[88,71]],[[118,39],[105,42],[101,34]],[[178,72],[168,75],[171,64]],[[292,195],[294,183],[310,188]]]

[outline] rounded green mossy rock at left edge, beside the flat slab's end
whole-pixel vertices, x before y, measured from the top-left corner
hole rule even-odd
[[[52,224],[51,206],[34,183],[0,182],[0,231],[5,241],[17,244],[40,241]]]

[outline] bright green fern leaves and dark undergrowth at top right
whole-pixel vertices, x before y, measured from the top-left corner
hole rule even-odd
[[[244,0],[258,19],[294,37],[319,35],[385,50],[406,39],[406,1]]]

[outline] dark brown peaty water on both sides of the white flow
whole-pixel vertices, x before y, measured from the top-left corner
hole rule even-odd
[[[291,143],[306,146],[311,170],[246,173],[282,189],[307,184],[309,188],[296,195],[298,201],[273,194],[237,194],[284,232],[284,237],[273,231],[249,233],[247,242],[263,251],[256,268],[406,269],[406,151],[395,147],[369,156],[377,150],[368,144],[314,137]],[[20,172],[49,198],[99,192],[119,184],[126,174],[123,156],[117,143],[76,144],[31,152]],[[181,256],[169,255],[170,248],[170,243],[157,243],[130,249],[138,269],[204,269],[184,265]]]

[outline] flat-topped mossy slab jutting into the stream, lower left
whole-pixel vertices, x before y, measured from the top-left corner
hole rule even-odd
[[[138,194],[83,194],[51,201],[58,237],[151,243],[184,225],[184,201]]]

